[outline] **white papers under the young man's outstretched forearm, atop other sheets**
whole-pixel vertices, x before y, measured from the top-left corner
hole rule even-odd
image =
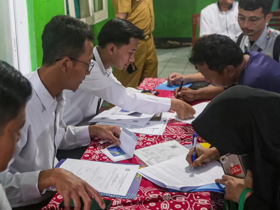
[[[154,114],[141,114],[138,112],[134,112],[128,115],[116,114],[119,112],[119,109],[119,107],[115,106],[110,110],[101,112],[100,114],[96,115],[93,119],[91,119],[89,121],[89,124],[96,122],[106,122],[144,127],[154,116]]]

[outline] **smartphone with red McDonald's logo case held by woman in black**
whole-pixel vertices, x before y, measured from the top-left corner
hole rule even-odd
[[[225,175],[234,176],[239,179],[245,179],[247,175],[248,164],[246,155],[227,154],[220,157]]]

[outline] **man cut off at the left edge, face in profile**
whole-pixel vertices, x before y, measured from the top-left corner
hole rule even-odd
[[[0,172],[6,170],[25,124],[25,107],[31,96],[30,82],[0,60]],[[0,180],[0,209],[12,210]]]

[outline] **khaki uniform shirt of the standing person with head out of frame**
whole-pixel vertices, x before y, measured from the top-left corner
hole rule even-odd
[[[155,28],[153,0],[112,0],[115,14],[128,13],[126,20],[152,34]]]

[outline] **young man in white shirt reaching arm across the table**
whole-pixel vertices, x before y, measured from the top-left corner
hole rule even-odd
[[[174,110],[181,119],[195,114],[194,109],[182,100],[149,96],[134,88],[125,88],[114,77],[111,66],[128,67],[134,61],[143,30],[133,23],[114,18],[108,21],[98,35],[99,46],[93,50],[95,57],[91,74],[76,92],[65,90],[66,106],[63,120],[68,125],[77,125],[98,112],[103,99],[128,111],[156,114]]]

